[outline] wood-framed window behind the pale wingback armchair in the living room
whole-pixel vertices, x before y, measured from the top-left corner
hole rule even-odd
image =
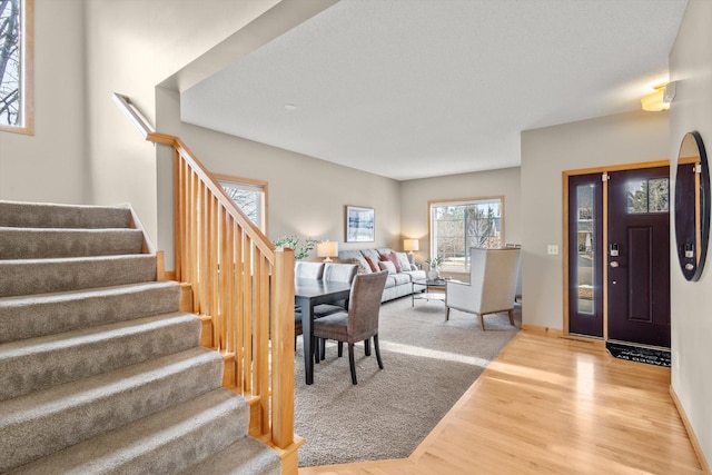
[[[504,245],[504,197],[431,201],[431,256],[442,270],[469,271],[471,247]]]

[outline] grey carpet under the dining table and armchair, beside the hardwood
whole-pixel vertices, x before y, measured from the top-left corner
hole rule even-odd
[[[442,301],[411,298],[380,309],[384,369],[375,353],[356,345],[358,385],[352,385],[348,353],[337,357],[327,344],[326,360],[315,365],[314,384],[304,382],[301,338],[295,356],[295,433],[306,438],[299,466],[405,458],[510,343],[516,327],[506,313],[485,316],[451,311]]]

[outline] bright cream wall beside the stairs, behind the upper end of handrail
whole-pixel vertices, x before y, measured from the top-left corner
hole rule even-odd
[[[56,0],[46,0],[63,4]],[[129,96],[156,123],[156,86],[278,0],[91,0],[86,6],[88,199],[131,202],[157,239],[157,157],[112,102]],[[80,16],[79,16],[80,18]],[[61,36],[57,34],[55,41]],[[51,71],[48,78],[57,80]]]

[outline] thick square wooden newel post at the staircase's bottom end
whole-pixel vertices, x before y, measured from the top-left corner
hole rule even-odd
[[[294,443],[294,250],[277,249],[271,274],[271,438]]]

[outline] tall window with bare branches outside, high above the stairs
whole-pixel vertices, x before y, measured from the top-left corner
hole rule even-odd
[[[32,0],[0,0],[0,130],[32,133]]]

